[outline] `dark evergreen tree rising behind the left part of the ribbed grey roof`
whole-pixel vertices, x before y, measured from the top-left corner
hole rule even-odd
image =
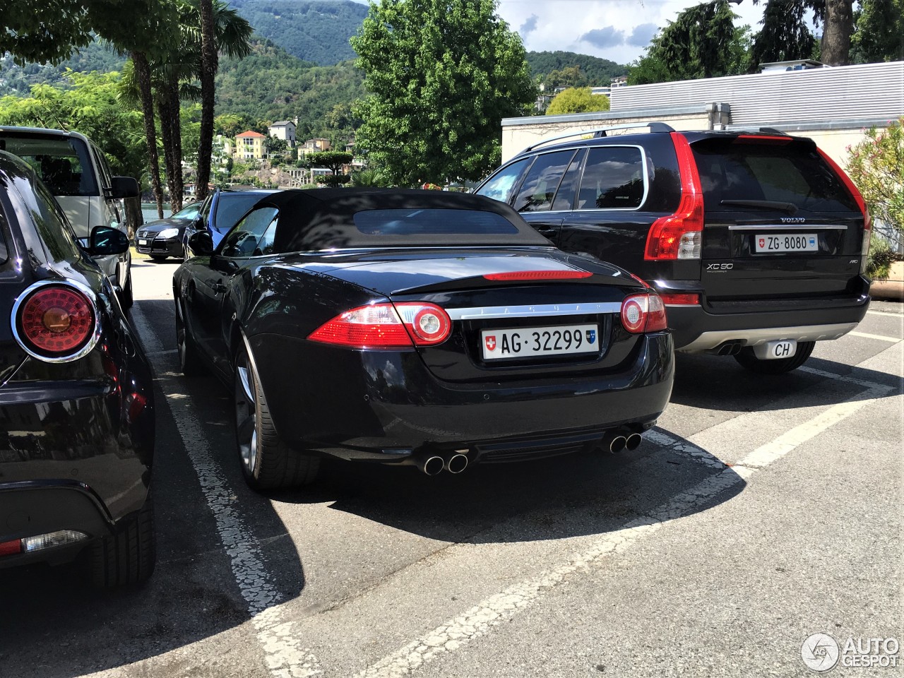
[[[696,80],[735,75],[746,67],[749,29],[736,28],[728,0],[692,5],[675,17],[631,66],[628,82]]]

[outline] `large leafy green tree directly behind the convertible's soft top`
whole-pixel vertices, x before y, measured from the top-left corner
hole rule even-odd
[[[536,89],[494,0],[380,0],[353,37],[371,95],[355,145],[395,184],[476,179],[500,162],[502,118]]]

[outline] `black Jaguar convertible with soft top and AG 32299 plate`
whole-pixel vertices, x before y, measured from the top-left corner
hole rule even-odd
[[[176,270],[185,374],[234,391],[258,489],[321,457],[417,465],[634,448],[669,399],[673,344],[639,278],[565,254],[507,205],[431,191],[263,198]]]

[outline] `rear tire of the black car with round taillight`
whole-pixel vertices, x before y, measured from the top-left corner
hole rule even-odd
[[[91,545],[89,553],[91,582],[102,589],[133,586],[154,573],[154,504],[147,494],[145,505],[124,518],[116,531]]]

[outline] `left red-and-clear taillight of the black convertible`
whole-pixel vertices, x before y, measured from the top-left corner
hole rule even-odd
[[[346,348],[410,348],[442,344],[452,320],[436,304],[401,302],[359,306],[336,315],[307,338]]]

